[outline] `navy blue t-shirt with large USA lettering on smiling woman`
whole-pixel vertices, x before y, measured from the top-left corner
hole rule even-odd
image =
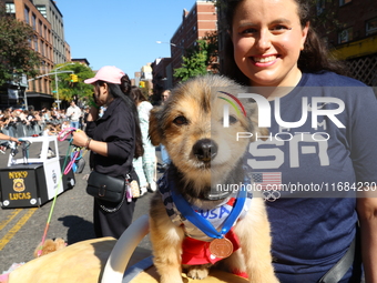
[[[281,179],[281,198],[266,201],[275,271],[282,283],[317,282],[355,236],[357,189],[377,182],[377,101],[361,82],[324,72],[304,73],[298,85],[279,99],[281,120],[303,125],[278,124],[276,101],[269,105],[272,138],[252,143],[246,159],[252,172],[274,172]],[[314,117],[313,127],[314,108],[338,113]],[[303,112],[308,113],[306,120]],[[304,193],[297,193],[299,189]],[[342,282],[348,282],[350,273]]]

